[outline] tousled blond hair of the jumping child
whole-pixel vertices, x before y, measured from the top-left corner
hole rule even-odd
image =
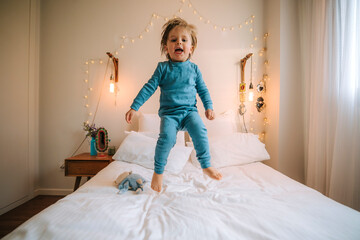
[[[196,27],[192,24],[188,24],[184,19],[181,18],[173,18],[170,19],[167,23],[164,24],[162,27],[163,31],[161,33],[161,54],[166,54],[166,44],[169,37],[169,33],[172,29],[175,27],[184,27],[191,36],[191,45],[193,47],[193,52],[195,51],[195,48],[197,46],[197,37],[196,37]],[[166,57],[170,60],[169,54],[166,54]],[[189,55],[189,58],[191,57],[191,54]]]

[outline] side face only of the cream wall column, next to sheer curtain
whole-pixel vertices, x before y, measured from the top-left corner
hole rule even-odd
[[[279,171],[304,183],[304,112],[300,68],[298,1],[280,4]]]

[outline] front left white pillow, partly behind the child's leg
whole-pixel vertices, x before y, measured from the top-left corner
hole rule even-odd
[[[130,132],[113,156],[114,160],[135,163],[154,169],[156,139],[137,132]],[[189,160],[191,147],[175,145],[169,154],[165,170],[179,173]]]

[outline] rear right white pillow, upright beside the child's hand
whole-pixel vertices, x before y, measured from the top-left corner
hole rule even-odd
[[[215,116],[215,119],[202,118],[208,132],[208,137],[224,136],[237,132],[236,114],[229,110]]]

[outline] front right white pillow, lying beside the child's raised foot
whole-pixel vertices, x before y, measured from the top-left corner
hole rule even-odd
[[[233,133],[226,136],[209,138],[211,166],[216,168],[244,165],[270,159],[265,144],[252,133]],[[192,147],[193,143],[188,142]],[[198,167],[195,150],[191,153],[192,163]]]

